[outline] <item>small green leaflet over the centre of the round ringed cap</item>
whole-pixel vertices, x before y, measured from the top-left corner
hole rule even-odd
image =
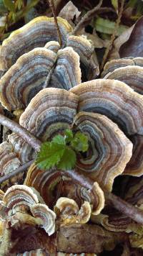
[[[78,152],[86,152],[89,147],[87,135],[77,132],[71,141],[71,147]]]

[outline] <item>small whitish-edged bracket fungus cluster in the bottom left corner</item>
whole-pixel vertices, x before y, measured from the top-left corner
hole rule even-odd
[[[55,231],[56,214],[46,204],[39,204],[36,193],[25,185],[8,188],[2,200],[0,213],[6,209],[4,221],[10,221],[11,227],[19,228],[21,224],[38,225],[49,236]],[[3,207],[2,207],[3,206]]]

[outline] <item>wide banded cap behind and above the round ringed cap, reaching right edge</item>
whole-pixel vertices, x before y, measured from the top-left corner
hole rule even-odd
[[[125,83],[97,79],[81,83],[70,90],[79,96],[78,111],[108,116],[128,134],[143,134],[143,96]]]

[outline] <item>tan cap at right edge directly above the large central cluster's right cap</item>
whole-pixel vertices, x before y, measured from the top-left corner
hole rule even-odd
[[[134,91],[143,94],[143,67],[127,66],[124,68],[117,68],[111,73],[108,73],[106,79],[117,79],[127,83]]]

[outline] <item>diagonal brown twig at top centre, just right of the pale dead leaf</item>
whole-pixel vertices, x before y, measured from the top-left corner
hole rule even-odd
[[[102,6],[102,2],[103,0],[99,1],[99,4],[97,4],[97,6],[95,6],[92,10],[90,10],[89,12],[87,12],[87,14],[84,15],[84,17],[82,17],[82,19],[80,20],[80,22],[77,24],[77,26],[74,28],[72,34],[76,35],[77,32],[79,31],[79,29],[81,29],[82,27],[84,27],[84,24],[87,24],[87,22],[91,21],[91,19],[94,17],[94,15],[96,14],[97,10]]]

